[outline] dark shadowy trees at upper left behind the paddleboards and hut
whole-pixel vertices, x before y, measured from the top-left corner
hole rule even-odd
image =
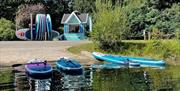
[[[63,14],[70,12],[70,8],[68,6],[69,1],[70,0],[4,0],[0,1],[0,11],[2,11],[0,12],[0,17],[14,21],[16,17],[16,12],[20,11],[18,7],[33,5],[36,6],[40,3],[41,5],[43,5],[45,12],[51,15],[53,29],[59,30]],[[37,11],[33,12],[38,12],[38,9]],[[29,17],[29,15],[25,17],[27,18]],[[26,19],[22,21],[26,21]],[[28,26],[24,23],[21,24],[20,26]]]

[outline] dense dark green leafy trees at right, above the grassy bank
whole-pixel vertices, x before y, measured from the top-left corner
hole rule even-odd
[[[173,36],[180,25],[180,5],[177,2],[144,0],[128,17],[131,36],[142,37],[143,30],[152,31],[153,28]]]

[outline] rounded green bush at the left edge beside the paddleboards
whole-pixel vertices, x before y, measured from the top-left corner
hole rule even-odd
[[[4,18],[0,19],[0,41],[15,39],[15,25]]]

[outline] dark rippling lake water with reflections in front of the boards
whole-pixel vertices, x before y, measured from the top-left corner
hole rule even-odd
[[[14,74],[15,83],[13,85],[16,87],[13,87],[13,90],[180,91],[179,68],[178,66],[165,67],[165,69],[93,69],[85,67],[84,74],[81,76],[69,76],[54,71],[53,77],[46,80],[33,80],[24,73],[18,72]]]

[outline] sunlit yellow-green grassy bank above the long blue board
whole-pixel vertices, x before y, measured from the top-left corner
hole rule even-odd
[[[126,56],[150,57],[164,59],[170,64],[180,64],[180,41],[177,40],[124,40],[123,49],[119,52],[103,51],[96,44],[88,43],[69,48],[72,53],[78,54],[81,51],[99,51]]]

